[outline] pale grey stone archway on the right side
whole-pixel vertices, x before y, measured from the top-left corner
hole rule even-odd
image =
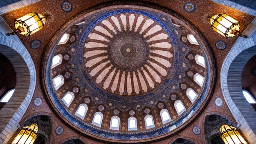
[[[247,61],[256,55],[256,37],[236,43],[225,58],[220,83],[224,99],[233,114],[237,127],[250,144],[256,144],[256,111],[243,95],[242,72]]]

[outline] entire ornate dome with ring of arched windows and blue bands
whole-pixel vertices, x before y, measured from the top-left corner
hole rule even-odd
[[[214,79],[200,33],[175,13],[148,7],[80,13],[52,39],[46,57],[43,81],[56,113],[81,133],[112,142],[157,140],[186,127]]]

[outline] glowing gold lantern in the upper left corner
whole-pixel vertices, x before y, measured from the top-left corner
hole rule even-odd
[[[44,15],[31,12],[14,20],[16,30],[12,33],[7,33],[7,35],[20,34],[30,36],[43,28],[45,20],[46,18]]]

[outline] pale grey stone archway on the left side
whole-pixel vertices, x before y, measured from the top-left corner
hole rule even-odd
[[[0,52],[16,72],[13,96],[0,110],[0,143],[6,144],[18,129],[36,87],[36,69],[27,49],[11,37],[0,35]]]

